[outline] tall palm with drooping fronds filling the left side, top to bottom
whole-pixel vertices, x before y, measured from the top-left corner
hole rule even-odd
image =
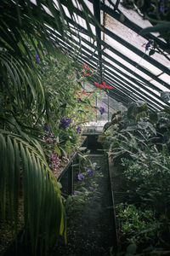
[[[23,196],[25,228],[34,254],[39,244],[47,253],[59,235],[65,236],[59,186],[40,144],[41,125],[45,116],[48,119],[48,95],[35,65],[44,50],[50,55],[56,51],[49,27],[63,38],[71,32],[68,22],[65,26],[65,10],[60,1],[58,4],[43,0],[3,0],[0,4],[0,212],[3,220],[8,215],[14,221],[17,234]],[[77,4],[88,25],[93,15],[82,0]],[[75,19],[73,2],[67,9]]]

